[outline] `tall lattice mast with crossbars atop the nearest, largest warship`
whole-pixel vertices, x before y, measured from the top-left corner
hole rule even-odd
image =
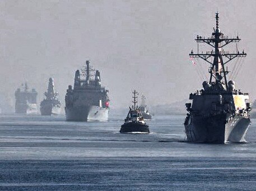
[[[210,46],[212,46],[215,50],[213,51],[206,51],[199,54],[199,51],[197,54],[194,54],[193,50],[189,54],[190,58],[201,58],[207,63],[211,64],[211,67],[208,69],[209,73],[211,74],[210,77],[210,84],[212,83],[212,77],[215,78],[216,84],[220,84],[221,80],[225,79],[225,85],[226,89],[228,89],[227,86],[227,78],[226,74],[229,73],[229,71],[225,70],[225,64],[227,64],[229,61],[231,61],[234,58],[237,57],[246,57],[246,53],[237,51],[236,53],[230,53],[228,51],[222,50],[222,47],[230,44],[230,42],[239,42],[241,39],[237,36],[236,38],[229,38],[228,36],[224,36],[224,34],[221,33],[220,28],[218,27],[218,18],[219,13],[216,13],[216,30],[212,33],[211,37],[202,37],[197,35],[197,38],[195,39],[198,43],[206,43]],[[213,57],[213,62],[210,61],[210,59]],[[225,59],[225,60],[224,60]]]

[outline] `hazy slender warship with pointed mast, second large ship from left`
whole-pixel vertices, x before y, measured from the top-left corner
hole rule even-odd
[[[42,116],[51,114],[60,114],[61,104],[58,99],[58,92],[55,92],[53,78],[49,78],[47,92],[44,93],[45,99],[40,103],[40,112]]]

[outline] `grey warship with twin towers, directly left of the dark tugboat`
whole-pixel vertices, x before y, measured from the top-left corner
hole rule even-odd
[[[90,61],[76,70],[75,83],[68,85],[65,96],[67,121],[108,121],[109,90],[101,84],[100,71],[90,67]]]

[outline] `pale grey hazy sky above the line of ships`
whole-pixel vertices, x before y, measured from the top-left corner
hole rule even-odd
[[[221,31],[239,34],[238,47],[248,54],[238,62],[243,68],[236,88],[255,99],[255,2],[0,1],[0,93],[14,104],[15,89],[27,81],[40,102],[54,77],[64,101],[76,69],[89,59],[100,70],[114,108],[127,107],[134,88],[150,105],[187,99],[202,87],[201,76],[208,77],[208,65],[196,60],[194,66],[188,54],[197,50],[197,34],[211,35],[219,11]]]

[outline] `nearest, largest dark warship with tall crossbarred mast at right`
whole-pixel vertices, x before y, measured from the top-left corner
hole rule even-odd
[[[186,103],[187,117],[184,126],[188,142],[244,142],[250,125],[249,94],[235,88],[235,82],[229,79],[226,64],[235,58],[246,57],[244,51],[229,52],[223,47],[239,42],[239,36],[229,38],[222,34],[219,27],[219,13],[216,13],[216,29],[213,28],[211,37],[197,35],[198,43],[206,43],[211,51],[189,54],[190,59],[203,59],[210,64],[209,82],[203,82],[203,89],[190,93],[192,103]],[[212,59],[212,61],[211,61]]]

